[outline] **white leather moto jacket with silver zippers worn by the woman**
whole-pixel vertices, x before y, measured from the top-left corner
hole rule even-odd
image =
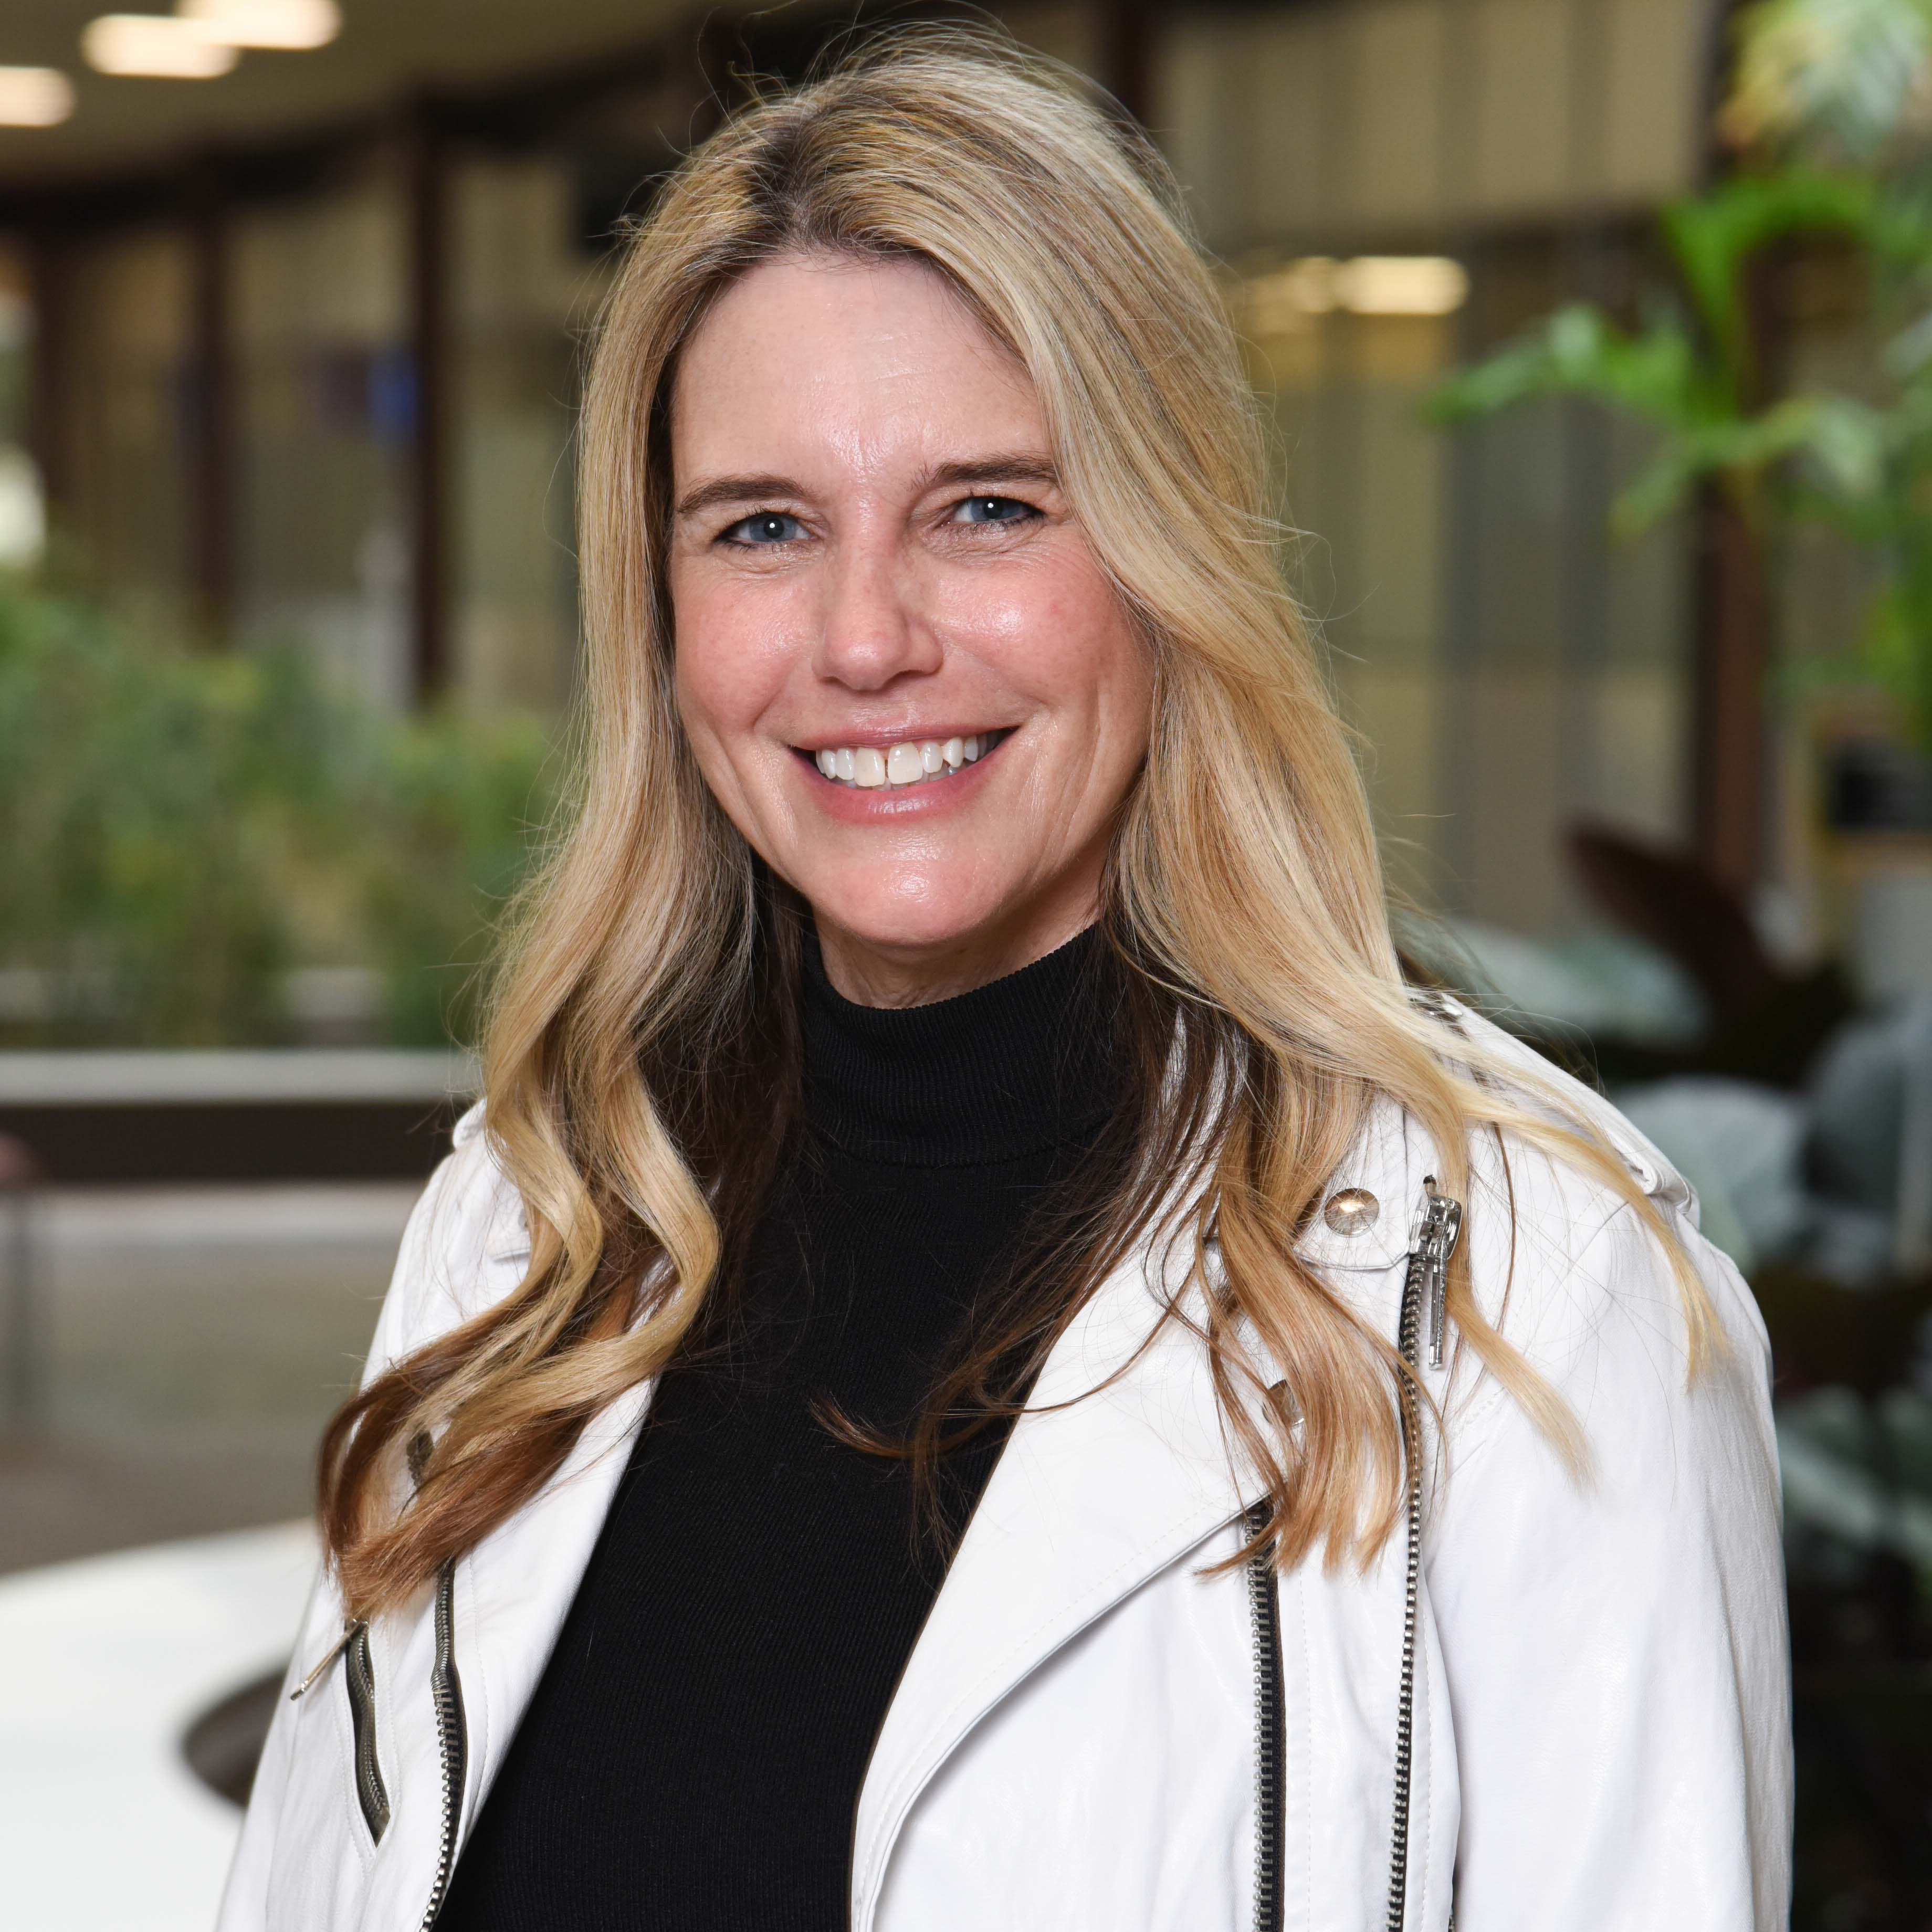
[[[1208,1573],[1238,1549],[1254,1482],[1188,1329],[1136,1356],[1165,1291],[1150,1264],[1122,1269],[1047,1362],[906,1663],[858,1803],[854,1932],[1785,1922],[1764,1329],[1683,1180],[1573,1097],[1677,1219],[1727,1356],[1687,1387],[1677,1289],[1627,1206],[1522,1146],[1505,1177],[1478,1146],[1478,1298],[1569,1401],[1592,1478],[1565,1474],[1453,1335],[1441,1368],[1418,1343],[1447,1443],[1426,1443],[1443,1474],[1416,1548],[1399,1534],[1366,1575]],[[410,1221],[373,1368],[524,1275],[522,1209],[479,1124]],[[1302,1250],[1391,1339],[1405,1300],[1426,1329],[1410,1250],[1430,1171],[1383,1107],[1333,1180],[1372,1204],[1347,1231],[1318,1215]],[[280,1706],[220,1932],[429,1924],[647,1399],[599,1416],[533,1503],[346,1648],[317,1582],[290,1689],[330,1662]]]

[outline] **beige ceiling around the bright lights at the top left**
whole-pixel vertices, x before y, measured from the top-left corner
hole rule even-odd
[[[0,0],[0,66],[60,68],[75,85],[60,128],[0,128],[0,187],[172,160],[197,147],[301,135],[381,112],[413,91],[562,70],[686,33],[694,0],[340,0],[342,33],[305,54],[249,50],[214,81],[112,79],[81,60],[81,29],[155,0]]]

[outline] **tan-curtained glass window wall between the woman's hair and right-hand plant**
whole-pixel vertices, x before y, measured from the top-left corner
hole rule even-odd
[[[1161,41],[1155,126],[1235,263],[1391,875],[1528,933],[1578,910],[1569,821],[1689,835],[1687,533],[1609,537],[1644,444],[1598,410],[1451,437],[1422,404],[1559,301],[1654,286],[1642,213],[1565,211],[1689,180],[1694,52],[1652,0],[1190,12]]]

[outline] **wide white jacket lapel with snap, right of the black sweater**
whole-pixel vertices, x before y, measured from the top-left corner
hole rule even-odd
[[[1350,1273],[1399,1264],[1420,1163],[1401,1109],[1378,1109],[1329,1192],[1366,1188],[1379,1211],[1354,1236],[1318,1217],[1302,1258]],[[1130,1260],[1047,1358],[873,1747],[854,1833],[854,1932],[869,1932],[898,1832],[972,1727],[1258,1493],[1223,1426],[1208,1350],[1190,1323],[1161,1320],[1177,1296],[1186,1308],[1190,1262],[1192,1240]]]

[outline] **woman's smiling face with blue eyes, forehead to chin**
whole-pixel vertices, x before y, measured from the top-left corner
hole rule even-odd
[[[670,444],[684,728],[838,991],[1080,931],[1151,686],[1012,354],[931,269],[784,257],[686,344]]]

